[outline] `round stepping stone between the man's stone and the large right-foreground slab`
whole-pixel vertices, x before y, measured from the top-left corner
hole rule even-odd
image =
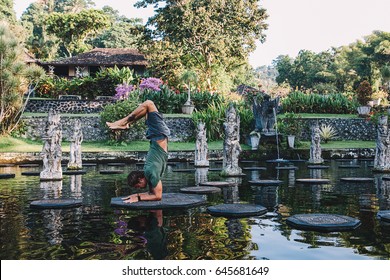
[[[260,216],[267,213],[267,208],[254,204],[219,204],[207,207],[207,211],[213,216],[223,217],[250,217]]]

